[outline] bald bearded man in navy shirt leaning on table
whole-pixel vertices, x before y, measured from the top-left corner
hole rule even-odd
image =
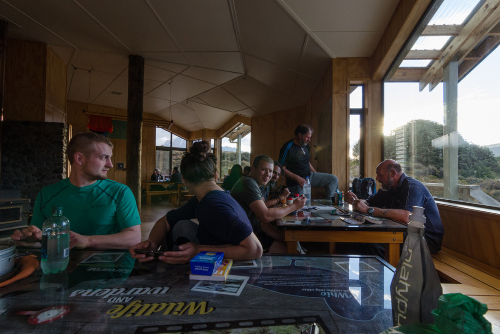
[[[407,176],[401,165],[392,159],[378,164],[376,180],[380,182],[380,190],[375,194],[367,199],[358,199],[353,192],[348,191],[345,200],[352,204],[356,211],[403,223],[409,221],[413,206],[423,207],[424,237],[430,253],[438,252],[441,249],[444,228],[436,202],[425,185]]]

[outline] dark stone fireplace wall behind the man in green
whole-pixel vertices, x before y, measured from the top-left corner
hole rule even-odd
[[[1,189],[19,189],[33,207],[38,191],[66,178],[68,125],[3,121]]]

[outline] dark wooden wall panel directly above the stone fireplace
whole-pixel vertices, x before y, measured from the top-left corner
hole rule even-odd
[[[7,39],[4,120],[45,120],[45,57],[45,44]]]

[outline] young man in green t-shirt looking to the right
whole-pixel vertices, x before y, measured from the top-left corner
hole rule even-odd
[[[69,247],[128,248],[140,241],[140,218],[132,191],[106,179],[113,144],[94,132],[75,134],[67,145],[68,178],[44,186],[37,194],[29,226],[13,240],[40,240],[43,221],[53,206],[69,219]]]

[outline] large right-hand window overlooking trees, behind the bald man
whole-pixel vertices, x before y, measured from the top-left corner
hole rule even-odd
[[[496,48],[458,82],[454,114],[444,112],[443,83],[384,84],[385,158],[435,197],[500,207],[499,62]]]

